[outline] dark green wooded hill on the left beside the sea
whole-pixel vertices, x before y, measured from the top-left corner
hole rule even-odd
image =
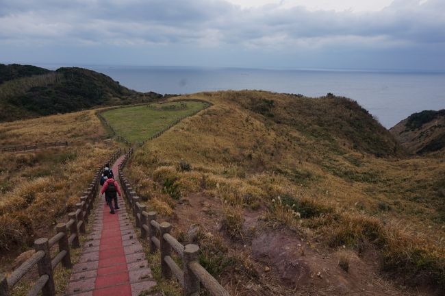
[[[6,68],[5,68],[6,67]],[[110,77],[81,68],[48,71],[8,65],[0,72],[0,121],[74,112],[97,106],[125,105],[162,98],[137,93]]]

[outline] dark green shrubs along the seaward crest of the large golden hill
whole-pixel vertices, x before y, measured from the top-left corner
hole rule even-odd
[[[273,99],[246,93],[240,99],[244,108],[262,114],[279,125],[287,125],[309,138],[324,141],[332,151],[344,154],[349,148],[377,157],[403,155],[402,147],[357,101],[328,95],[319,99],[286,95],[277,104]],[[348,143],[352,147],[344,147]],[[347,149],[346,149],[347,148]]]

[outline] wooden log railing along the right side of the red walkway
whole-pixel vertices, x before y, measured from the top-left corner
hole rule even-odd
[[[170,234],[170,223],[159,223],[156,221],[156,212],[147,212],[147,206],[140,203],[140,197],[136,195],[122,171],[132,154],[133,149],[130,149],[119,165],[119,180],[129,208],[133,212],[136,226],[140,227],[141,238],[148,240],[151,253],[160,250],[162,276],[168,279],[175,276],[183,286],[183,295],[199,295],[202,284],[211,295],[228,296],[229,293],[225,288],[199,264],[199,246],[183,246]],[[172,251],[182,259],[182,268],[173,260]]]

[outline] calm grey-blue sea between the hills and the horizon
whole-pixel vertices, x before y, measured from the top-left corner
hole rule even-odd
[[[197,93],[205,90],[270,90],[359,102],[387,128],[414,112],[445,108],[445,73],[314,71],[159,66],[84,66],[134,90]]]

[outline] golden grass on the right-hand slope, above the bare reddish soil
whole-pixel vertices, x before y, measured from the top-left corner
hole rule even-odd
[[[235,241],[246,237],[243,215],[253,209],[325,246],[358,252],[372,242],[383,269],[444,285],[443,162],[404,159],[387,130],[346,99],[254,91],[193,97],[214,106],[137,151],[128,172],[152,208],[171,217],[174,199],[214,196]],[[192,171],[178,167],[181,159]],[[254,280],[247,274],[238,277]]]

